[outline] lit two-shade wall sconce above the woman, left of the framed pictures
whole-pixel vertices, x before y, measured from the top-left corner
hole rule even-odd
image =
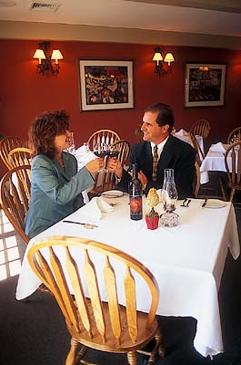
[[[63,59],[63,55],[59,49],[54,49],[50,57],[50,42],[42,42],[38,44],[35,50],[34,58],[38,58],[37,72],[39,74],[45,75],[51,72],[53,75],[59,73],[58,59]],[[52,63],[52,59],[55,59],[55,63]]]

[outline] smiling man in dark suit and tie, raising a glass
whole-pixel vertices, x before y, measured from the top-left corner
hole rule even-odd
[[[173,126],[171,107],[157,103],[146,108],[141,127],[143,141],[131,147],[129,167],[131,169],[132,163],[137,163],[138,176],[145,193],[152,187],[162,188],[164,169],[174,169],[178,197],[193,197],[196,151],[190,144],[170,134]],[[157,162],[157,170],[154,160]],[[108,168],[115,172],[118,187],[127,192],[131,175],[123,169],[120,162],[109,162]]]

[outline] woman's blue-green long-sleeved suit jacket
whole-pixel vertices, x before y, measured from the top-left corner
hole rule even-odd
[[[81,192],[94,184],[85,167],[77,172],[73,155],[63,152],[63,160],[65,171],[43,154],[34,158],[31,201],[25,219],[25,233],[30,238],[80,208],[84,204]]]

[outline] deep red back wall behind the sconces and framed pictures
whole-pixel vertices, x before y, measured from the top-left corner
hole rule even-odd
[[[57,77],[36,74],[33,58],[38,41],[0,40],[0,134],[27,138],[31,120],[42,111],[65,109],[71,116],[76,145],[95,130],[116,130],[123,139],[135,143],[135,126],[147,105],[170,104],[176,116],[176,130],[189,129],[200,118],[211,123],[209,142],[226,141],[229,130],[240,125],[241,51],[204,47],[166,47],[176,57],[173,71],[158,78],[152,61],[154,47],[135,44],[53,42],[64,55]],[[134,99],[132,110],[80,111],[78,58],[133,59]],[[187,62],[226,63],[226,105],[185,108],[185,68]],[[4,168],[0,166],[0,175]]]

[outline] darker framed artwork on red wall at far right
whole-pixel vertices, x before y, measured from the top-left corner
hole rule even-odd
[[[226,65],[186,64],[186,107],[224,105],[225,89]]]

